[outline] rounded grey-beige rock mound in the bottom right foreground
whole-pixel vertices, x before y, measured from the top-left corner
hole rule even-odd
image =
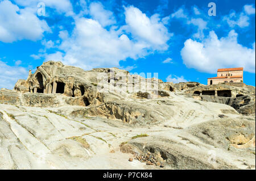
[[[149,151],[172,169],[254,169],[254,150],[255,123],[241,119],[207,121],[179,133],[136,138],[121,146],[121,151],[134,155]]]

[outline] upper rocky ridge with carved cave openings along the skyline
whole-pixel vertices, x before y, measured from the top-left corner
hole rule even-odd
[[[19,80],[14,89],[22,93],[34,92],[46,95],[36,95],[42,99],[34,101],[34,95],[24,94],[25,100],[23,102],[26,106],[47,107],[47,105],[53,106],[53,104],[56,106],[68,104],[85,107],[98,106],[94,108],[98,110],[101,107],[105,107],[107,102],[115,100],[170,98],[170,92],[176,92],[178,95],[185,95],[197,100],[228,104],[240,113],[255,113],[255,101],[253,99],[247,103],[239,103],[241,102],[241,98],[238,98],[240,96],[250,95],[255,97],[255,87],[247,86],[244,83],[220,83],[209,86],[198,82],[174,84],[172,82],[163,82],[156,78],[150,79],[139,75],[130,75],[128,71],[117,68],[97,68],[84,71],[80,68],[65,66],[61,62],[54,61],[44,62],[34,74],[30,71],[27,80]],[[53,100],[56,98],[52,94],[56,95],[56,93],[63,94],[69,98],[62,98],[64,103]],[[2,91],[3,94],[5,93]],[[2,98],[2,100],[4,99],[7,98]],[[13,98],[10,97],[10,99]],[[247,100],[249,99],[245,101]],[[240,107],[242,107],[241,110]],[[112,110],[111,112],[114,113],[115,111]],[[93,114],[95,115],[95,113]],[[113,116],[108,115],[106,117]],[[126,117],[122,118],[122,120],[127,121],[129,119]]]

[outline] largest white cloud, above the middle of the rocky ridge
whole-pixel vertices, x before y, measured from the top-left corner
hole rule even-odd
[[[121,60],[136,60],[168,48],[167,41],[171,35],[158,16],[148,18],[133,6],[125,8],[125,16],[127,24],[119,29],[116,26],[106,29],[101,19],[75,18],[73,32],[59,33],[59,52],[44,57],[46,60],[61,60],[64,64],[88,70],[119,66]],[[38,58],[35,55],[33,57]]]

